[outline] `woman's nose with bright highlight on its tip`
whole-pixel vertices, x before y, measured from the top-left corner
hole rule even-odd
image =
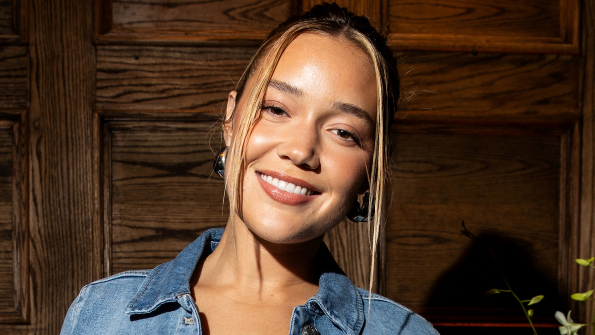
[[[302,169],[315,170],[320,166],[318,132],[315,129],[305,131],[304,128],[309,127],[300,126],[287,132],[284,140],[277,146],[277,154],[281,159],[289,159]]]

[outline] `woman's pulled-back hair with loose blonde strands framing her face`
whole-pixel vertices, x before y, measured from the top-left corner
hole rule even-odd
[[[394,57],[383,38],[369,24],[365,17],[350,13],[336,4],[317,5],[311,11],[293,17],[273,30],[258,49],[244,71],[238,85],[236,103],[246,95],[245,108],[234,120],[234,137],[229,145],[226,162],[226,190],[230,200],[230,224],[234,224],[234,215],[242,218],[242,182],[246,169],[246,144],[261,114],[261,103],[268,83],[281,55],[287,46],[302,33],[321,33],[327,36],[345,39],[368,55],[374,68],[377,86],[377,117],[374,151],[371,166],[368,168],[368,234],[371,244],[371,269],[369,290],[374,281],[376,255],[380,229],[383,224],[384,207],[387,191],[387,165],[389,162],[388,132],[392,123],[396,101],[399,97]],[[254,85],[244,92],[248,79]],[[237,106],[237,104],[236,104]],[[234,116],[227,116],[226,123]]]

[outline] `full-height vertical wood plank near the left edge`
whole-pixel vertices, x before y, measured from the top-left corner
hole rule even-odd
[[[96,279],[92,217],[93,4],[30,0],[30,330],[57,334]]]

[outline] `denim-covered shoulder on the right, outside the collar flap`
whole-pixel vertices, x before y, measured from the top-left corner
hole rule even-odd
[[[438,332],[424,318],[380,294],[359,289],[364,300],[364,334],[436,335]],[[369,306],[369,308],[368,308]]]

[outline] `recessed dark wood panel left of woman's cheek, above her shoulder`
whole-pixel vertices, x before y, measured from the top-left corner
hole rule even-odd
[[[227,223],[223,179],[212,172],[213,123],[105,123],[107,274],[153,268]]]

